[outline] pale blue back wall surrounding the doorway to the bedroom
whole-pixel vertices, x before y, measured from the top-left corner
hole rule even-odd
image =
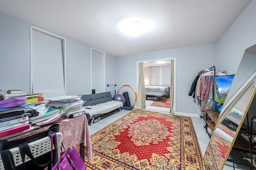
[[[118,85],[129,84],[137,91],[137,61],[176,57],[176,112],[198,114],[195,99],[188,96],[192,82],[202,69],[216,65],[215,44],[196,45],[117,58]],[[118,87],[119,88],[119,87]],[[135,96],[129,94],[133,103]]]

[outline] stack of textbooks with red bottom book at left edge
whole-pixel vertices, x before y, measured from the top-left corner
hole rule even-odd
[[[28,130],[30,128],[28,120],[28,114],[24,111],[22,115],[0,119],[0,137]]]

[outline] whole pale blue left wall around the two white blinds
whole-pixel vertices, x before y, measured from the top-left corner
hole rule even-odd
[[[30,23],[2,13],[0,23],[0,89],[29,93]],[[92,93],[90,56],[89,46],[66,38],[66,95]],[[116,57],[106,54],[106,83],[116,83],[115,65]]]

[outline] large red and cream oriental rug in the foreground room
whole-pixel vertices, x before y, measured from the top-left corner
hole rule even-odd
[[[190,117],[137,109],[92,134],[91,142],[87,170],[203,169]]]

